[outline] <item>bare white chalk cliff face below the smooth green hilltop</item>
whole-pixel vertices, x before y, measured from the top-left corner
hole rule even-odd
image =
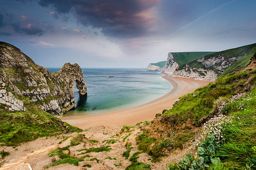
[[[172,53],[169,53],[163,69],[165,73],[172,74],[173,76],[214,81],[233,63],[254,52],[255,47],[256,44],[251,44],[215,52],[180,66],[174,61]]]

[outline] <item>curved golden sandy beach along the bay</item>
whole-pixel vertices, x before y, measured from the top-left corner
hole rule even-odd
[[[107,127],[133,126],[138,122],[153,120],[156,113],[161,113],[163,109],[171,109],[175,100],[182,95],[186,95],[187,93],[193,92],[198,87],[210,83],[210,81],[172,77],[166,74],[163,75],[163,78],[172,83],[173,88],[166,95],[152,100],[151,102],[124,110],[97,115],[64,116],[60,117],[60,119],[83,130],[100,125]]]

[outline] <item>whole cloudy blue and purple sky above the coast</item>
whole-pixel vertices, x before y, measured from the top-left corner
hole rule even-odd
[[[0,0],[0,41],[44,67],[146,68],[256,43],[255,0]]]

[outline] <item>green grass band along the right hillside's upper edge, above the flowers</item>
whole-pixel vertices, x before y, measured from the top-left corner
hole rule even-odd
[[[180,97],[179,101],[174,103],[174,107],[165,112],[162,118],[169,116],[172,126],[183,124],[187,120],[192,121],[195,126],[201,126],[216,108],[215,102],[220,97],[230,98],[238,92],[251,90],[255,79],[256,70],[220,76],[215,82]]]

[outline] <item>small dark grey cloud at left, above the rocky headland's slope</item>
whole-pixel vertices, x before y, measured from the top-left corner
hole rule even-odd
[[[32,24],[28,24],[25,28],[21,28],[19,23],[11,24],[15,32],[24,32],[27,35],[43,35],[43,30],[34,27]]]

